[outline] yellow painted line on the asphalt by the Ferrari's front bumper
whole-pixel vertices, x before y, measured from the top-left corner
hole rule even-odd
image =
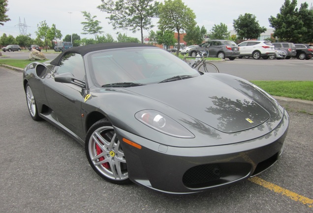
[[[307,205],[310,208],[313,208],[313,200],[307,197],[304,197],[302,195],[299,195],[297,193],[294,193],[292,191],[289,191],[287,189],[282,188],[281,186],[275,185],[273,183],[267,182],[261,178],[253,177],[249,178],[249,180],[253,183],[256,183],[260,186],[263,186],[267,189],[270,189],[271,191],[277,192],[279,194],[282,194],[284,196],[287,196],[291,200],[298,201],[304,205]]]

